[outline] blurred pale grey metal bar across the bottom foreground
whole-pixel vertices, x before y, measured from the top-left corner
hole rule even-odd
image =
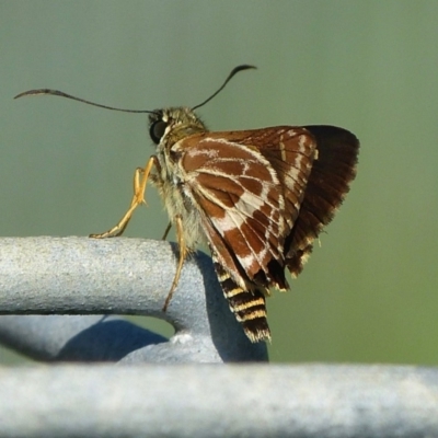
[[[438,370],[58,366],[0,370],[0,436],[437,437]]]

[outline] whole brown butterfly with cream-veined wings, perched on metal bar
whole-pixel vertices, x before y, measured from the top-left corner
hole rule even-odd
[[[286,269],[292,277],[301,273],[314,240],[349,191],[359,141],[346,129],[321,125],[209,131],[195,110],[235,73],[253,68],[235,67],[219,90],[193,108],[120,110],[49,89],[16,97],[51,94],[108,110],[149,113],[155,152],[136,170],[134,196],[122,220],[91,237],[120,235],[135,209],[146,203],[150,182],[163,199],[180,247],[163,310],[170,306],[184,261],[205,244],[231,312],[255,343],[270,341],[269,290],[289,288]]]

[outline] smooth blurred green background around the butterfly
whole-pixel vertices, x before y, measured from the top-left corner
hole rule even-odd
[[[438,365],[437,16],[435,0],[0,2],[0,235],[106,230],[153,151],[143,115],[15,94],[193,106],[254,64],[199,111],[211,129],[332,124],[361,141],[322,247],[269,299],[272,360]],[[148,200],[126,235],[161,238]]]

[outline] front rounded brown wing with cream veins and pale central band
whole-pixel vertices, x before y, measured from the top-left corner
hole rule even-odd
[[[277,281],[269,273],[272,261],[284,264],[284,239],[289,232],[276,172],[255,147],[217,132],[196,137],[185,140],[196,146],[186,145],[181,166],[187,194],[210,222],[209,243],[224,258],[222,247],[216,247],[218,237],[211,237],[217,233],[250,281],[283,287],[284,274]]]

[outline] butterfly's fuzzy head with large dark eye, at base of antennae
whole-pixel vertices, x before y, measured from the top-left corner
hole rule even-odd
[[[155,110],[149,114],[149,135],[155,145],[174,145],[185,137],[205,131],[205,124],[185,106]]]

